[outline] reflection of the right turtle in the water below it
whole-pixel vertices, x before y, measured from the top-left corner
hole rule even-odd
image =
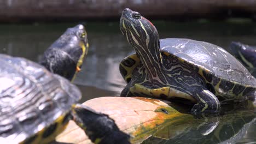
[[[178,125],[167,125],[143,143],[236,143],[256,121],[251,108],[226,112],[221,116],[188,119]],[[254,136],[255,137],[255,134]],[[255,140],[255,138],[254,138]],[[252,141],[249,139],[249,141]]]

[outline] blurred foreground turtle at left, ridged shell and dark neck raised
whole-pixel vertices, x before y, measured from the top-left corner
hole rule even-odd
[[[40,61],[56,74],[28,59],[0,54],[1,143],[49,143],[69,119],[84,131],[84,123],[92,118],[98,127],[112,126],[107,115],[78,104],[82,94],[67,80],[73,79],[87,51],[84,26],[78,25],[56,40]]]

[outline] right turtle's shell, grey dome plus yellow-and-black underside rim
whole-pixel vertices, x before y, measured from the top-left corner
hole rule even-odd
[[[160,47],[164,61],[167,58],[165,56],[171,55],[193,65],[205,78],[207,86],[210,83],[209,88],[213,91],[215,89],[218,95],[228,94],[233,97],[234,94],[242,94],[247,88],[244,95],[256,86],[256,80],[249,71],[222,47],[204,41],[178,38],[161,39]],[[127,83],[139,64],[141,62],[136,54],[121,61],[120,73]]]

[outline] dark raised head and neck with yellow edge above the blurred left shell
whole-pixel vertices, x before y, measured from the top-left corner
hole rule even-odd
[[[87,33],[83,25],[68,28],[45,52],[39,63],[52,73],[74,80],[88,53]]]

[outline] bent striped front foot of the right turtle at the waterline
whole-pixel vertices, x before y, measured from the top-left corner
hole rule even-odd
[[[193,106],[191,113],[218,112],[220,109],[218,98],[206,89],[194,93],[193,97],[197,100],[197,104]]]

